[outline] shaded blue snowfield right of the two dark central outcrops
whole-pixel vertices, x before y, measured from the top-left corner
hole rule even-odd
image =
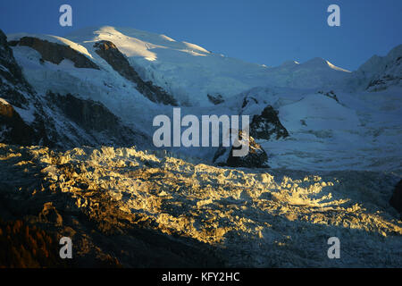
[[[271,151],[271,165],[402,174],[399,91],[337,95],[339,102],[314,94],[280,107],[280,119],[289,130],[289,139],[259,142]]]

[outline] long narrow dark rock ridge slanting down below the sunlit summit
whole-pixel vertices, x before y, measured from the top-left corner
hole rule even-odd
[[[117,46],[112,42],[103,40],[96,42],[94,46],[96,47],[97,55],[100,55],[122,77],[136,83],[138,91],[149,100],[163,105],[178,105],[176,99],[166,93],[163,88],[155,86],[151,81],[142,80],[127,58],[121,54]]]

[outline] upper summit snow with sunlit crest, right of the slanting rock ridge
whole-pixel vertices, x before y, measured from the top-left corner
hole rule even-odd
[[[331,63],[311,66],[299,64],[294,75],[282,68],[267,68],[261,64],[245,63],[208,52],[204,47],[188,42],[172,41],[138,29],[109,26],[78,30],[67,38],[92,51],[97,40],[112,41],[130,63],[142,71],[146,80],[152,80],[174,94],[181,102],[191,105],[212,105],[207,94],[232,97],[239,92],[272,84],[282,87],[318,88],[331,78],[343,76],[343,69]],[[93,52],[90,52],[92,55]],[[324,61],[324,60],[322,60]],[[308,68],[308,71],[306,71]],[[306,80],[306,78],[311,78]]]

